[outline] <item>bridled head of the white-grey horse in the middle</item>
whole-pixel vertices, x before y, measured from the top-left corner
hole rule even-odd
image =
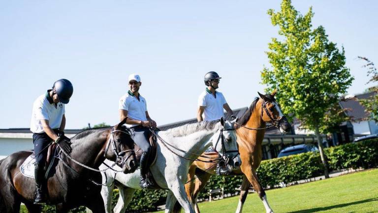
[[[222,117],[222,128],[219,130],[219,134],[215,134],[212,137],[213,146],[221,155],[222,161],[224,165],[227,166],[229,172],[238,169],[241,165],[234,128],[235,121],[236,119],[234,121],[224,120]]]

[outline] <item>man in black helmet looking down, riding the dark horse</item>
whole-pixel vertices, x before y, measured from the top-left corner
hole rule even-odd
[[[39,96],[33,103],[30,130],[33,133],[35,155],[35,195],[34,204],[46,202],[45,188],[45,162],[47,146],[53,141],[67,153],[71,152],[70,142],[64,136],[65,127],[64,104],[69,102],[73,87],[69,80],[57,80],[53,89]]]

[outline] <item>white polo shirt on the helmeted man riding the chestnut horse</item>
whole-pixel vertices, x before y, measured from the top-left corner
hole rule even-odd
[[[206,88],[198,97],[198,106],[205,106],[203,120],[219,120],[223,116],[223,105],[226,99],[221,92],[215,92],[215,96]]]

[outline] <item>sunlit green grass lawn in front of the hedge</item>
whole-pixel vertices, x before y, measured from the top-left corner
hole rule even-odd
[[[266,194],[275,213],[378,213],[378,169],[267,190]],[[199,208],[201,213],[232,213],[238,199],[202,202]],[[257,194],[248,195],[243,212],[265,212]]]

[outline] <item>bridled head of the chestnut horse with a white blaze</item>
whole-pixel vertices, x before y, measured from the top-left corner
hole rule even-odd
[[[261,100],[261,119],[264,122],[272,123],[272,125],[279,128],[281,133],[287,133],[290,131],[291,125],[282,113],[280,105],[274,98],[277,94],[277,89],[271,94],[267,93],[263,95],[259,92],[257,93]]]

